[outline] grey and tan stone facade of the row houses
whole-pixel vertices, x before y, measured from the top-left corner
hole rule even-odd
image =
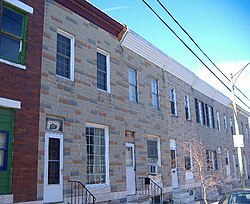
[[[74,80],[56,75],[58,29],[74,38]],[[97,88],[97,51],[110,55],[110,93]],[[137,53],[122,47],[117,36],[101,29],[56,1],[45,2],[43,59],[41,72],[41,105],[38,151],[38,200],[44,199],[44,160],[46,119],[63,120],[63,192],[69,196],[68,180],[87,182],[86,126],[97,124],[108,129],[108,182],[106,185],[87,185],[98,202],[119,200],[124,203],[126,193],[125,144],[135,145],[136,184],[139,177],[148,176],[147,138],[160,139],[161,164],[158,173],[151,175],[165,193],[172,192],[170,139],[177,144],[177,160],[184,162],[183,141],[202,138],[210,150],[229,149],[234,154],[230,131],[224,132],[223,114],[233,117],[232,110],[193,89],[183,80],[161,69]],[[129,100],[128,69],[137,70],[138,103]],[[159,109],[152,107],[151,79],[159,83]],[[170,113],[169,88],[176,90],[177,116]],[[190,97],[191,120],[186,120],[184,95]],[[221,131],[196,123],[195,98],[204,101],[221,113]],[[247,118],[239,120],[248,124]],[[128,132],[133,136],[128,136]],[[248,152],[246,152],[248,154]],[[224,151],[222,152],[224,157]],[[233,172],[233,164],[231,171]],[[225,166],[225,164],[220,164]],[[188,186],[184,170],[179,167],[179,187]],[[232,173],[233,174],[233,173]]]

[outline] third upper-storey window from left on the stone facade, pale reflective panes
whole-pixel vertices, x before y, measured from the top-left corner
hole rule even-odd
[[[135,69],[128,70],[129,100],[137,103],[137,72]]]

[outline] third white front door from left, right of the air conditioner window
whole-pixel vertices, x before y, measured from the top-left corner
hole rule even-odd
[[[171,157],[172,188],[179,188],[175,140],[170,140],[170,157]]]

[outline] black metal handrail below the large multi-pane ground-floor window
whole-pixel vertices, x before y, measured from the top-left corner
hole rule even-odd
[[[80,181],[68,181],[70,183],[69,204],[90,204],[95,203],[95,196]]]

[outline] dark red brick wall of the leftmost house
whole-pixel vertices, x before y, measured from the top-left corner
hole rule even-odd
[[[21,101],[14,123],[12,193],[14,202],[37,199],[37,152],[43,0],[22,0],[33,7],[28,16],[26,70],[0,63],[0,97]]]

